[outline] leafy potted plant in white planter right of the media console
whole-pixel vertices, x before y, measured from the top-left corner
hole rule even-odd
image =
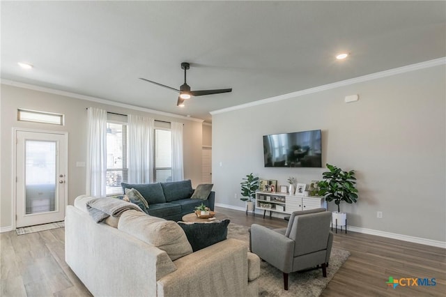
[[[355,188],[355,171],[349,172],[327,164],[328,172],[323,172],[323,181],[318,182],[318,195],[325,196],[325,200],[330,202],[334,200],[337,205],[337,211],[333,212],[332,222],[340,226],[346,226],[346,213],[341,213],[339,204],[346,201],[348,204],[356,203],[357,189]]]

